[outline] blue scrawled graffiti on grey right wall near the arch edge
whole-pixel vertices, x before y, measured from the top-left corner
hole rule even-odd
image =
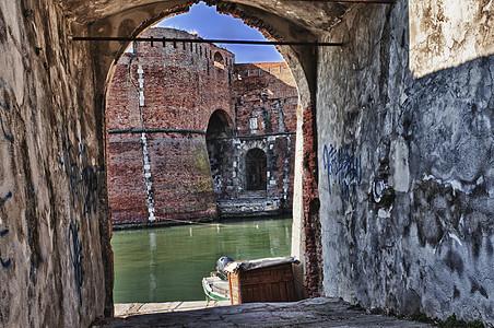
[[[325,172],[328,177],[329,195],[339,186],[344,200],[355,195],[362,181],[362,157],[355,155],[355,149],[349,145],[336,148],[325,144],[322,152]]]

